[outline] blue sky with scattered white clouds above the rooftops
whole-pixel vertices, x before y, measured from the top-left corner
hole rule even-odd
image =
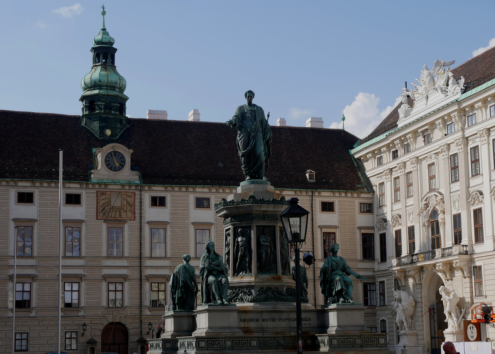
[[[100,1],[0,1],[0,109],[80,114]],[[127,114],[226,122],[244,93],[304,126],[363,138],[423,64],[455,67],[495,46],[495,1],[104,0]],[[0,122],[1,124],[1,122]]]

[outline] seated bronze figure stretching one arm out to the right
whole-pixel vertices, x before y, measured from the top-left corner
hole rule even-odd
[[[337,255],[339,247],[339,244],[330,246],[332,254],[325,259],[320,270],[321,293],[325,295],[327,304],[354,303],[352,300],[354,286],[349,275],[353,275],[356,279],[368,280],[365,276],[352,271],[346,259]]]

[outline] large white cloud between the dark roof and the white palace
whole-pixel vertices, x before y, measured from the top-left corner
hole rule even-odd
[[[344,108],[346,130],[358,138],[364,138],[380,124],[399,102],[400,96],[396,98],[393,105],[380,110],[380,108],[378,108],[380,98],[376,97],[374,94],[367,94],[364,92],[358,93],[357,96],[354,97],[354,101]],[[342,121],[332,123],[330,128],[342,129]]]

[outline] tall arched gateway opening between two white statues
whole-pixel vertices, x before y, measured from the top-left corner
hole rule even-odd
[[[437,273],[431,277],[428,287],[428,302],[430,315],[430,340],[431,353],[442,354],[442,342],[445,342],[444,331],[447,329],[446,316],[444,313],[444,302],[439,288],[445,285],[442,278]]]

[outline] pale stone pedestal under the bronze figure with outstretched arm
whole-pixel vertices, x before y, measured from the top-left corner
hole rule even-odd
[[[368,333],[364,325],[364,310],[362,303],[334,303],[324,305],[324,326],[328,334]]]

